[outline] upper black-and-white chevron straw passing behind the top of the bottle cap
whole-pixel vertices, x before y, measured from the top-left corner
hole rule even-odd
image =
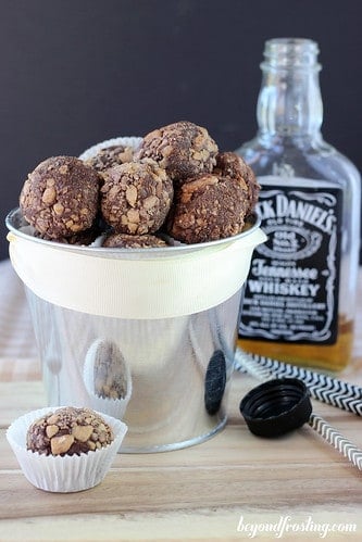
[[[240,370],[242,367],[240,361],[242,360],[248,360],[249,366],[253,364],[254,366],[263,367],[265,376],[269,374],[278,378],[299,378],[308,386],[313,399],[362,416],[362,388],[359,386],[324,375],[323,373],[283,363],[271,357],[248,354],[241,349],[237,349],[235,354],[236,369]]]

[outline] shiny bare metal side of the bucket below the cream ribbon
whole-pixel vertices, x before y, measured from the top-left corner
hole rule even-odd
[[[122,418],[128,425],[123,452],[176,450],[224,427],[239,292],[208,311],[155,320],[78,313],[28,289],[27,298],[49,405],[89,406]],[[113,345],[112,370],[118,364],[130,396],[102,398],[91,388],[90,360],[107,343]]]

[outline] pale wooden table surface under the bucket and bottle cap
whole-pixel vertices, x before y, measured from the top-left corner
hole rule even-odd
[[[358,294],[353,363],[338,377],[362,385],[362,275]],[[257,383],[234,375],[228,424],[208,442],[117,454],[97,488],[58,494],[26,480],[5,439],[14,418],[46,405],[38,361],[0,358],[0,540],[362,540],[362,472],[307,425],[252,436],[238,404]],[[362,449],[358,416],[313,408]]]

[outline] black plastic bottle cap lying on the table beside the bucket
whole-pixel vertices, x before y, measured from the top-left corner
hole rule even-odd
[[[278,437],[305,424],[312,403],[302,380],[277,378],[250,390],[240,402],[240,413],[252,433]]]

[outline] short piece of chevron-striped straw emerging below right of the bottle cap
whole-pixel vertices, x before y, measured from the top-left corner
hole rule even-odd
[[[317,414],[311,414],[309,425],[332,446],[347,457],[359,470],[362,470],[362,450],[346,439]]]

